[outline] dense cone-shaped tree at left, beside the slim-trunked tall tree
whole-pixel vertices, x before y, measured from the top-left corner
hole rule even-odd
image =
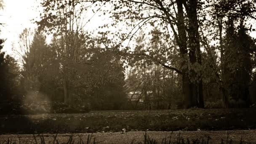
[[[24,82],[27,91],[40,91],[49,97],[58,96],[60,64],[56,49],[46,44],[45,35],[35,32],[24,64]]]

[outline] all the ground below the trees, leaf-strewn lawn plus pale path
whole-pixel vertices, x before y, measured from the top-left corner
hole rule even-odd
[[[59,141],[66,141],[71,134],[82,133],[87,139],[88,133],[93,133],[92,139],[108,143],[131,142],[144,139],[144,131],[150,137],[161,141],[168,138],[177,139],[179,133],[187,140],[205,136],[211,137],[213,143],[229,138],[233,141],[256,143],[256,108],[244,109],[178,109],[178,110],[142,110],[142,111],[91,111],[77,114],[40,114],[40,115],[0,115],[0,136],[2,141],[7,138],[31,140],[33,135],[44,134],[45,139],[53,139],[54,133],[59,133]],[[228,130],[228,131],[227,131]],[[230,131],[240,130],[240,131]],[[125,132],[128,131],[128,132]],[[157,131],[157,132],[154,132]],[[227,131],[227,132],[226,132]],[[78,134],[74,134],[77,139]],[[39,137],[37,138],[40,139]],[[80,139],[80,138],[79,138]],[[33,140],[33,139],[32,139]]]

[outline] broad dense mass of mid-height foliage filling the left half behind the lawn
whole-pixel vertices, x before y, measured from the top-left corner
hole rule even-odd
[[[28,37],[33,40],[30,42]],[[47,101],[63,101],[68,88],[69,105],[120,109],[126,101],[120,57],[99,48],[96,41],[87,39],[83,33],[77,35],[77,39],[75,56],[70,59],[66,57],[66,50],[59,47],[61,38],[53,37],[48,45],[43,33],[35,31],[29,35],[28,30],[24,30],[20,41],[27,45],[21,47],[21,51],[25,51],[21,85],[27,92],[26,99],[29,93],[36,98],[33,92],[38,91]]]

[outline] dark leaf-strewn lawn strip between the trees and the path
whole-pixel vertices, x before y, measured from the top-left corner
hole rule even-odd
[[[0,133],[211,131],[256,128],[256,109],[91,111],[80,114],[1,115]]]

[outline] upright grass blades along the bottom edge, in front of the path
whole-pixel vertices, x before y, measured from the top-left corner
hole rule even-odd
[[[27,139],[22,141],[20,138],[18,141],[13,141],[12,139],[6,139],[3,142],[0,142],[0,144],[100,144],[103,141],[96,141],[95,138],[93,138],[92,135],[88,135],[86,138],[82,138],[79,136],[79,138],[74,138],[72,135],[69,136],[69,139],[67,141],[59,141],[58,134],[53,136],[53,140],[47,141],[43,135],[35,135],[33,134],[33,139]],[[129,142],[130,144],[211,144],[211,137],[201,137],[201,139],[186,139],[181,137],[180,135],[177,137],[177,139],[173,140],[172,135],[171,136],[165,136],[161,141],[157,141],[156,139],[151,139],[150,136],[147,134],[147,131],[144,134],[144,140],[143,141],[135,141],[134,139]],[[220,139],[219,144],[248,144],[248,142],[243,142],[242,139],[240,141],[235,142],[232,141],[232,139],[229,139],[229,136],[227,135],[227,138]],[[214,142],[216,144],[216,142]]]

